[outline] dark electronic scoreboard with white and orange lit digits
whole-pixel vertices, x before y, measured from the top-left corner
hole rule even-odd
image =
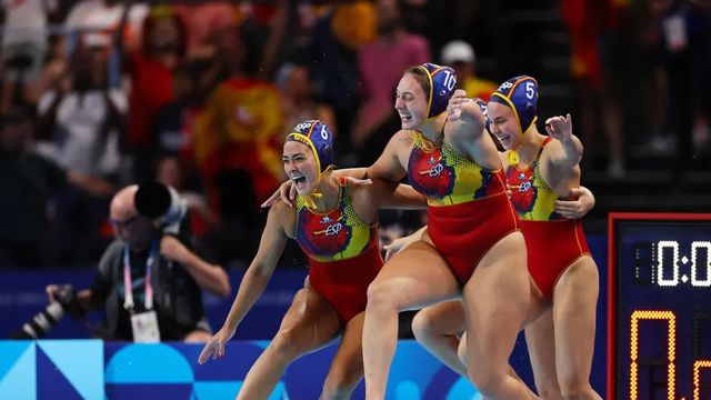
[[[611,213],[608,397],[711,399],[711,214]]]

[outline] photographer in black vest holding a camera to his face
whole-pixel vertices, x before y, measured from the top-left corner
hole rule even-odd
[[[129,186],[113,197],[110,217],[117,240],[104,251],[94,283],[77,293],[80,309],[104,309],[98,332],[102,339],[210,338],[200,288],[227,297],[230,283],[220,267],[200,259],[178,239],[186,212],[178,202],[177,194],[160,183]],[[50,301],[57,300],[58,289],[47,287]]]

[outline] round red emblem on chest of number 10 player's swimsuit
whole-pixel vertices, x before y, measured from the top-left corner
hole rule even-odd
[[[410,184],[420,193],[437,198],[452,193],[457,174],[454,168],[444,163],[441,149],[425,153],[415,147],[410,154],[408,171]]]

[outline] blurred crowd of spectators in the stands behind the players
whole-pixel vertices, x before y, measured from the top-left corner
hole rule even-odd
[[[675,151],[679,169],[709,149],[708,0],[2,7],[0,267],[96,263],[112,234],[110,198],[151,180],[188,199],[201,254],[243,263],[266,218],[259,204],[284,179],[281,143],[298,121],[331,127],[338,167],[368,166],[399,129],[394,87],[413,64],[450,64],[484,99],[494,82],[532,74],[547,99],[555,82],[540,62],[550,51],[544,26],[568,39],[559,78],[572,96],[541,109],[572,111],[587,170],[624,178],[632,144]],[[557,18],[537,26],[541,14]],[[384,234],[421,218],[383,216]],[[298,253],[286,262],[299,263]]]

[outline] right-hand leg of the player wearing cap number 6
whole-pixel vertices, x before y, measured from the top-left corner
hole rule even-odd
[[[364,321],[365,312],[361,312],[346,326],[341,344],[323,382],[321,399],[350,399],[358,382],[363,378]]]

